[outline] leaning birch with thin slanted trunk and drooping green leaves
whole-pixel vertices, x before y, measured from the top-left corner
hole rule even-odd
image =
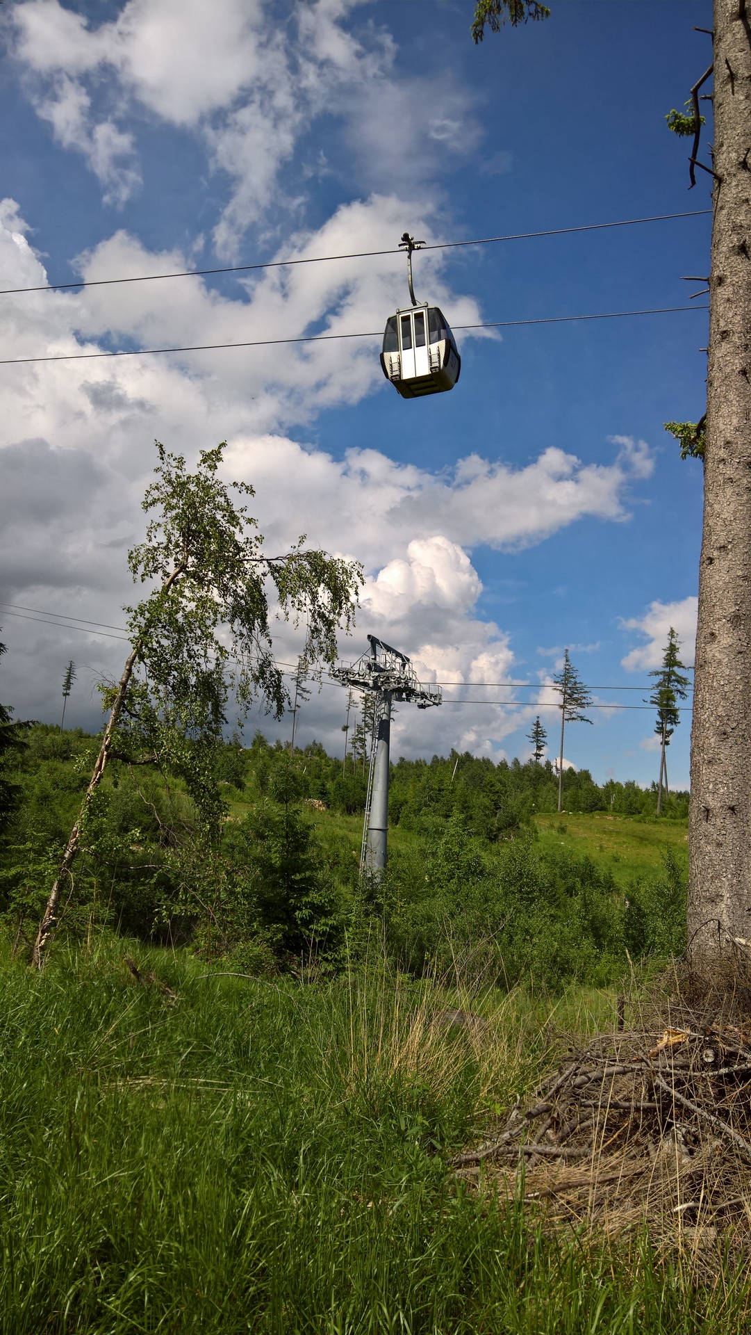
[[[73,862],[108,761],[173,768],[217,824],[209,752],[229,700],[240,713],[260,702],[276,718],[289,704],[269,618],[304,619],[307,653],[319,663],[335,662],[336,633],[353,621],[359,565],[305,547],[304,537],[289,551],[265,555],[256,521],[239,503],[253,489],[219,477],[225,442],[201,451],[195,473],[183,455],[159,442],[156,449],[155,481],[143,501],[152,518],[145,541],[128,553],[133,581],[151,589],[125,609],[132,647],[120,681],[104,690],[109,717],[39,926],[37,969],[61,894],[73,890]]]

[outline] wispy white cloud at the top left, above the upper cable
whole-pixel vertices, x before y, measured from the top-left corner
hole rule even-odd
[[[337,124],[348,175],[368,191],[422,188],[479,138],[468,92],[444,79],[431,109],[426,76],[394,76],[386,29],[371,20],[349,31],[359,3],[313,0],[279,25],[261,0],[127,0],[95,25],[60,0],[23,0],[8,29],[32,104],[84,156],[105,202],[121,204],[140,184],[123,128],[133,107],[197,136],[229,183],[213,242],[233,258],[247,228],[284,203],[280,174],[319,116]]]

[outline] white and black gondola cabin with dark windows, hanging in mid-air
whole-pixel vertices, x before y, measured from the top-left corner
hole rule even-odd
[[[452,390],[462,358],[446,316],[438,306],[396,311],[386,326],[380,364],[403,399]]]

